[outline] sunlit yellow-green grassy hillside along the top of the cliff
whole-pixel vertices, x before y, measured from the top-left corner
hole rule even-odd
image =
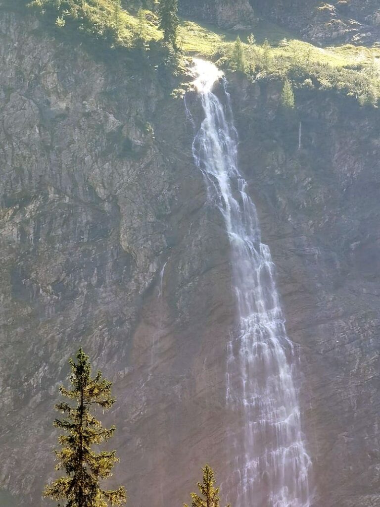
[[[62,29],[77,28],[93,37],[104,39],[110,46],[136,46],[149,50],[162,46],[163,33],[157,15],[148,9],[138,10],[139,3],[129,2],[129,9],[116,10],[115,0],[88,0],[79,12],[77,4],[65,0],[61,8],[52,0],[34,0],[47,22]],[[149,3],[146,3],[149,5]],[[67,8],[71,5],[70,9]],[[154,9],[153,2],[151,8]],[[319,48],[297,40],[272,23],[259,22],[252,28],[255,41],[247,43],[247,31],[222,31],[195,21],[181,20],[176,61],[191,55],[203,56],[222,68],[244,68],[251,80],[272,77],[290,80],[294,88],[308,87],[335,90],[352,96],[361,104],[377,105],[380,98],[380,48],[352,45]],[[244,65],[234,61],[235,39],[243,41]],[[165,48],[163,48],[165,49]],[[157,52],[156,52],[157,54]]]

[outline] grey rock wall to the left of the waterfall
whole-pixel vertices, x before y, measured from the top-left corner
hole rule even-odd
[[[175,480],[180,504],[206,459],[223,462],[233,318],[183,101],[138,53],[22,12],[1,11],[0,40],[1,487],[42,504],[57,388],[83,345],[115,382],[116,481],[162,505]]]

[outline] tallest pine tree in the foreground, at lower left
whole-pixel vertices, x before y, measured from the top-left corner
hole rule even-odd
[[[63,469],[65,476],[45,487],[44,496],[65,500],[58,507],[107,507],[126,501],[124,487],[115,491],[101,489],[99,481],[110,477],[113,465],[119,461],[116,451],[95,453],[92,445],[108,441],[115,426],[106,429],[91,413],[96,406],[109,409],[115,398],[111,396],[112,383],[100,371],[91,376],[88,356],[79,349],[77,363],[70,359],[71,389],[61,386],[61,394],[74,402],[58,403],[56,409],[65,414],[54,425],[64,431],[58,438],[61,449],[55,451],[59,461],[56,470]]]

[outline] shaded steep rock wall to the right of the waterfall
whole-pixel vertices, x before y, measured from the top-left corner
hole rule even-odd
[[[285,114],[281,85],[237,79],[241,163],[300,347],[316,505],[380,505],[378,112],[302,92]]]

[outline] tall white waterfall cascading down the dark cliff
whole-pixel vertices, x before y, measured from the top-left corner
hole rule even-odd
[[[223,215],[231,243],[238,331],[227,347],[226,403],[241,417],[231,431],[225,493],[234,507],[309,507],[311,460],[302,441],[293,381],[296,354],[285,330],[269,247],[261,242],[255,205],[239,172],[230,96],[212,93],[222,78],[195,60],[203,123],[193,143],[209,199]]]

